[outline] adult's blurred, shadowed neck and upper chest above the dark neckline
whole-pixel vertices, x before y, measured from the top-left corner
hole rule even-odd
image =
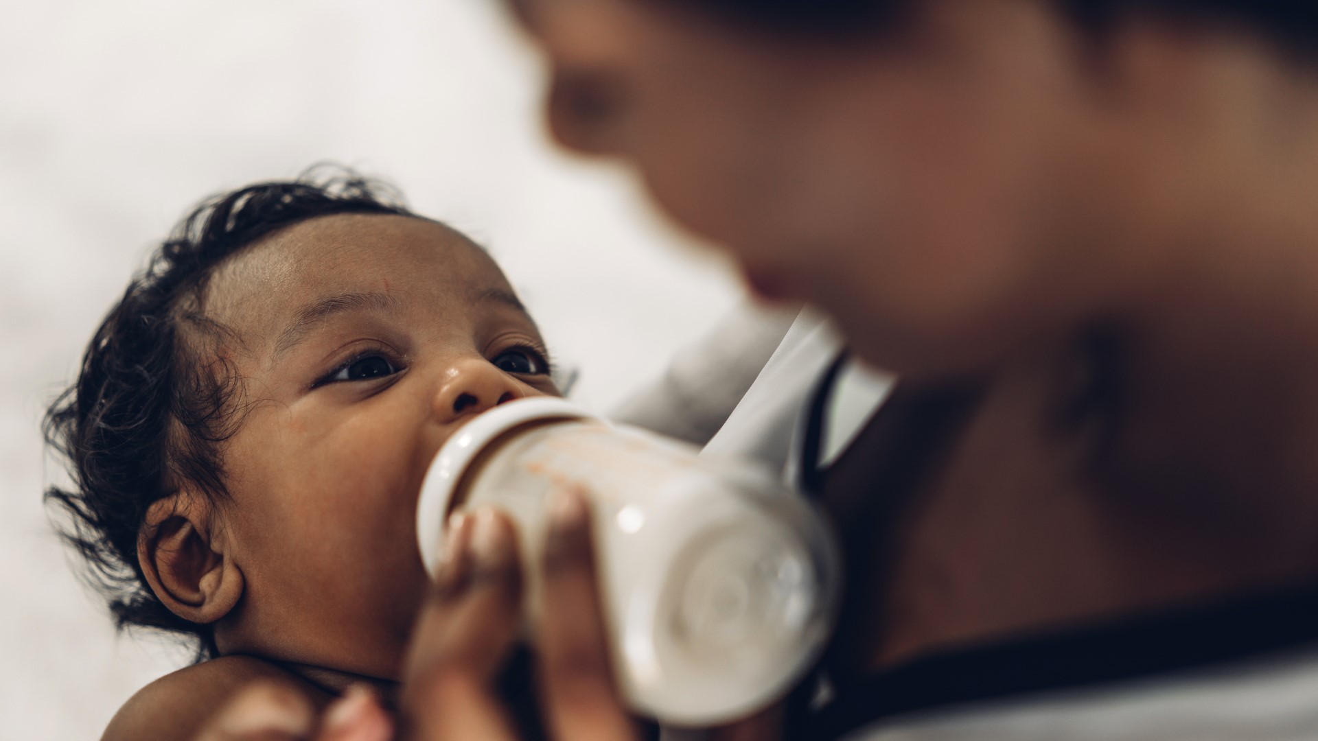
[[[1202,189],[1203,210],[1159,224],[1174,241],[1162,270],[992,370],[875,585],[870,668],[1318,583],[1318,195],[1304,196],[1318,169],[1297,165],[1318,158],[1304,152],[1318,148],[1235,154],[1249,187]],[[1066,411],[1091,381],[1108,396]]]

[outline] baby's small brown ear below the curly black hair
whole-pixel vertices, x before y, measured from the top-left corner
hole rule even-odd
[[[243,596],[243,571],[215,523],[206,497],[181,490],[148,508],[137,539],[137,562],[152,591],[191,622],[223,618]]]

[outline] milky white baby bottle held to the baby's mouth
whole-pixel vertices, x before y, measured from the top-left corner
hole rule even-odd
[[[614,674],[637,712],[733,720],[818,655],[840,575],[808,502],[757,464],[701,458],[558,398],[500,405],[443,446],[416,512],[426,570],[434,576],[451,512],[498,506],[518,529],[534,621],[544,498],[560,485],[587,494]]]

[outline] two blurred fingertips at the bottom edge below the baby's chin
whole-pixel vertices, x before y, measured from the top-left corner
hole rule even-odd
[[[393,737],[393,721],[364,687],[344,694],[318,723],[306,697],[258,682],[225,703],[195,741],[389,741]]]

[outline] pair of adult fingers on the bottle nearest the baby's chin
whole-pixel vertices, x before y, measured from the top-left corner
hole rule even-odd
[[[409,738],[511,738],[490,686],[522,624],[517,531],[481,509],[449,526],[430,597],[413,633],[402,713]]]

